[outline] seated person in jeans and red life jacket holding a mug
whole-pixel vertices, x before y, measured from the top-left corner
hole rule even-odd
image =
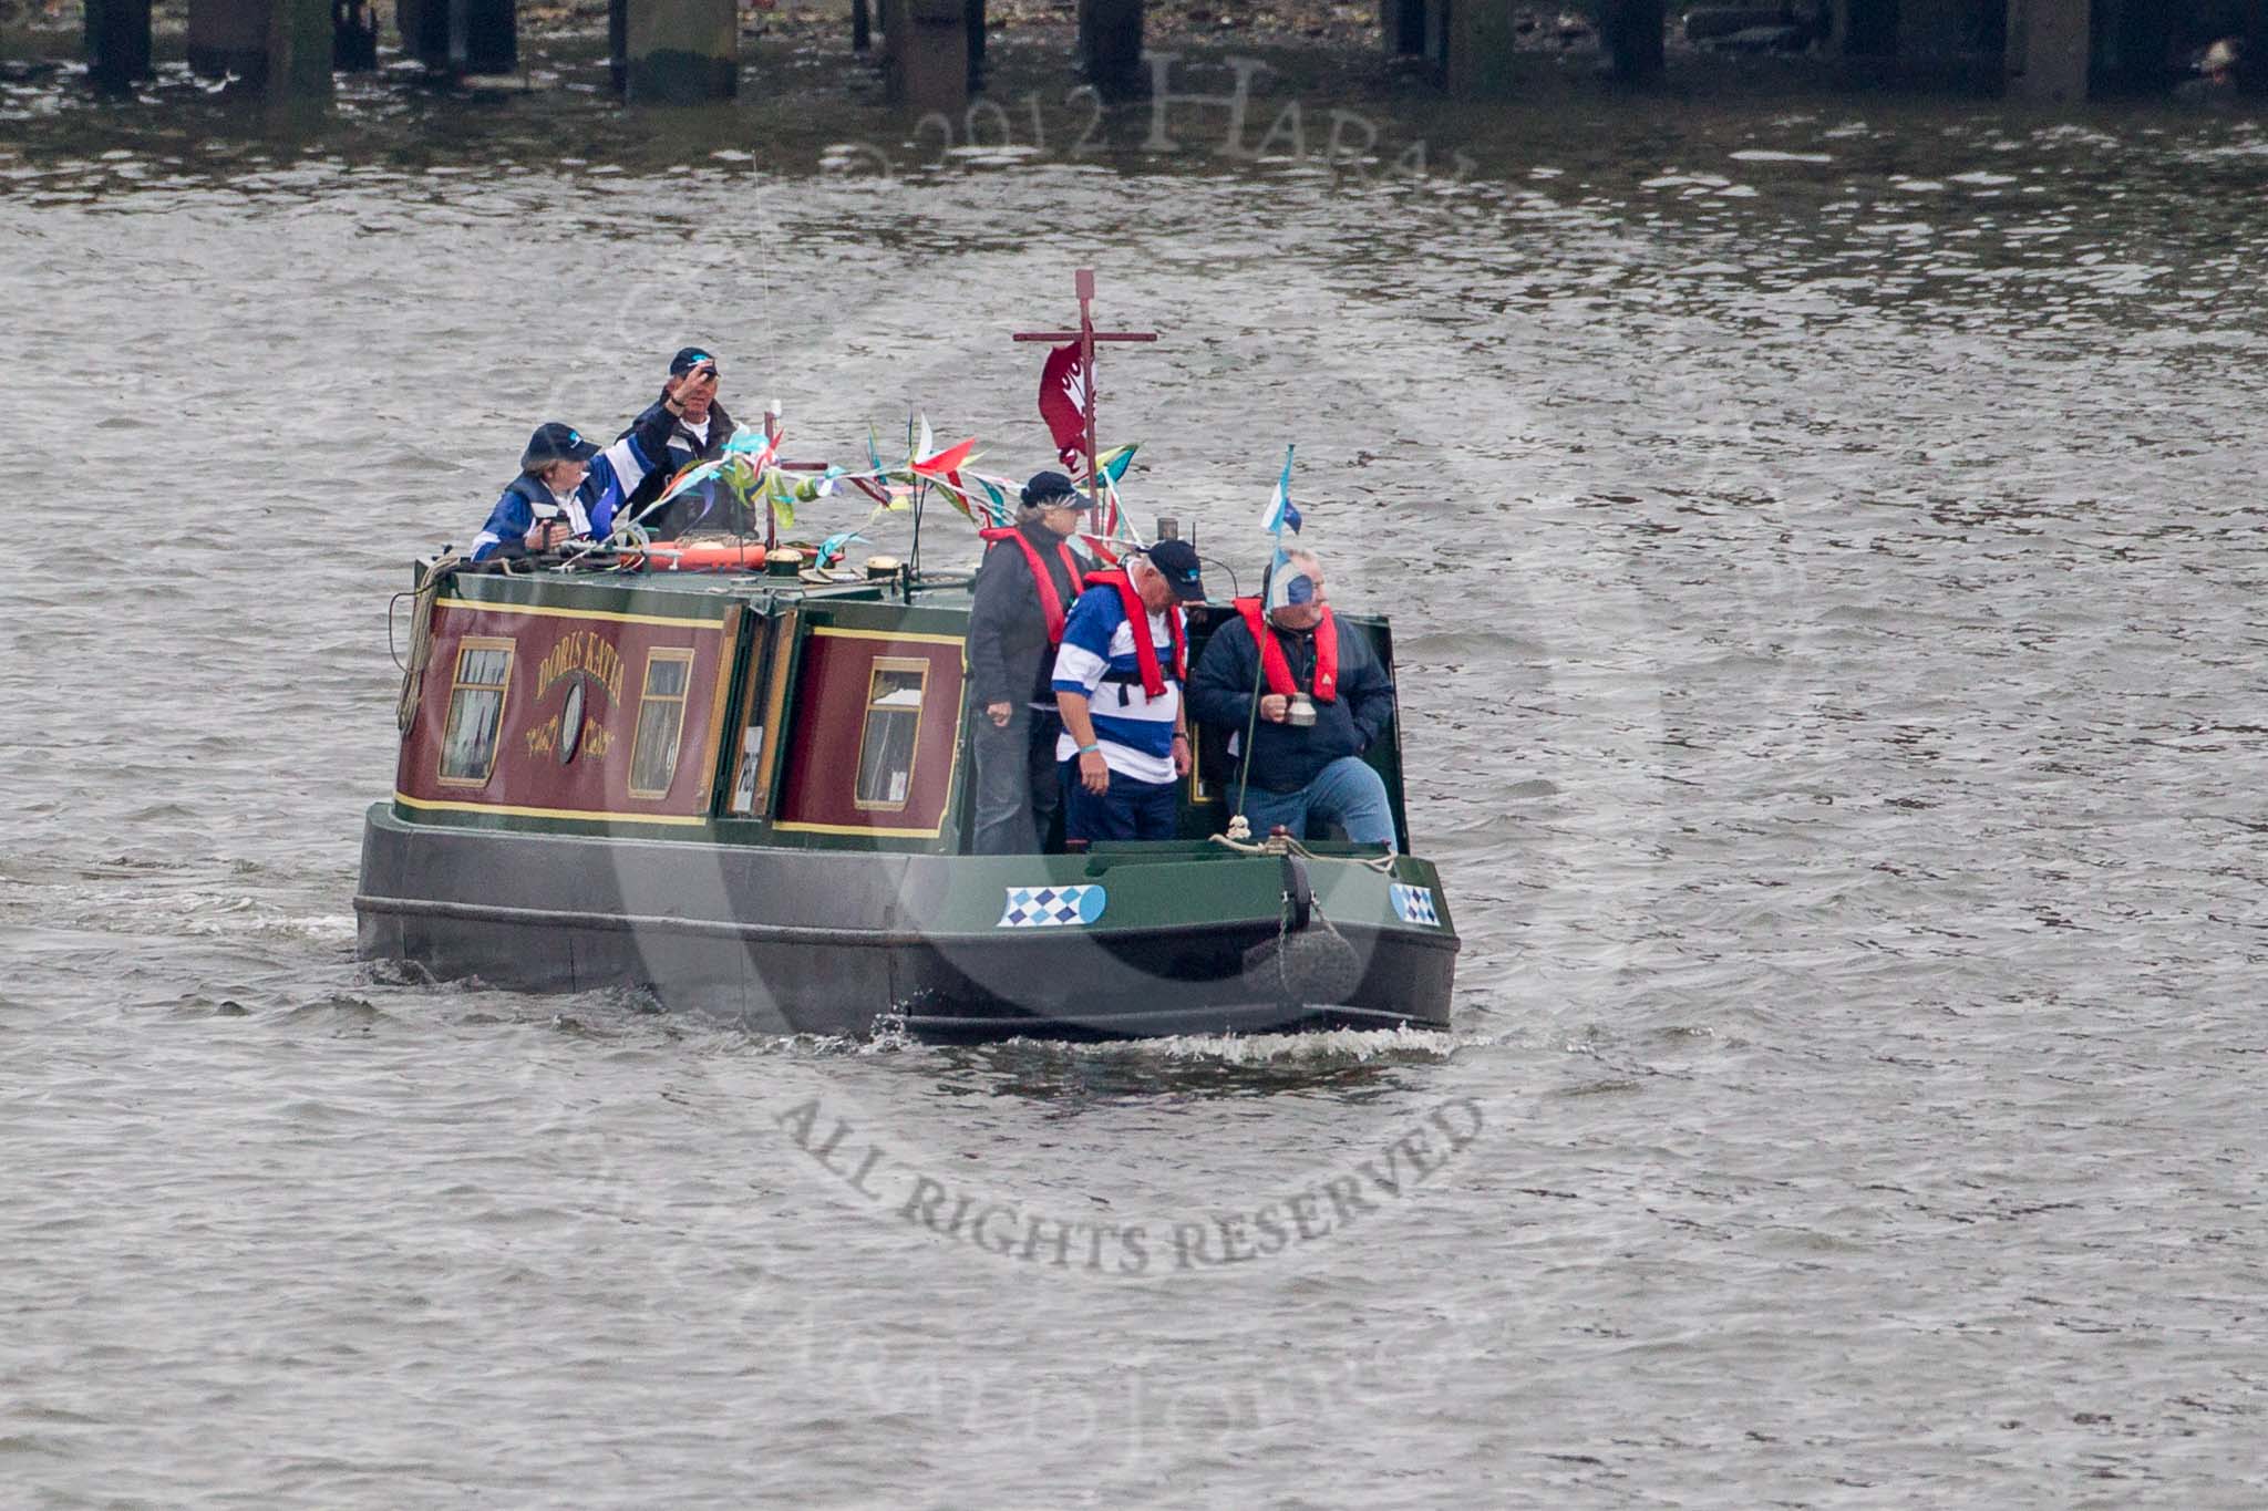
[[[1395,811],[1386,784],[1361,757],[1386,736],[1395,718],[1395,689],[1361,634],[1340,634],[1322,594],[1322,564],[1311,550],[1290,550],[1290,605],[1261,623],[1259,598],[1238,598],[1236,618],[1207,641],[1188,684],[1188,707],[1200,723],[1222,725],[1229,754],[1241,754],[1252,729],[1245,820],[1252,836],[1275,825],[1293,838],[1336,822],[1359,845],[1393,845]],[[1259,650],[1254,650],[1259,648]],[[1259,720],[1252,689],[1259,686]],[[1290,723],[1293,693],[1306,693],[1315,723]],[[1236,795],[1236,779],[1229,782]]]

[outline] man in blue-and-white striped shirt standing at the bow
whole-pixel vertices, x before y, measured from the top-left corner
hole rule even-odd
[[[1064,840],[1170,840],[1188,775],[1188,618],[1204,603],[1198,553],[1166,539],[1086,578],[1055,652],[1064,736]]]

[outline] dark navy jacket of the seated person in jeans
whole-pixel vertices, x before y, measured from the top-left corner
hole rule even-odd
[[[1268,628],[1284,648],[1293,684],[1315,691],[1315,637]],[[1252,723],[1252,689],[1261,693],[1261,657],[1243,618],[1229,618],[1204,641],[1198,671],[1188,677],[1188,711],[1207,725],[1222,725],[1238,745]],[[1295,793],[1331,761],[1370,750],[1395,720],[1395,684],[1370,655],[1370,639],[1354,625],[1338,625],[1338,698],[1315,700],[1315,723],[1306,729],[1252,725],[1252,786]]]

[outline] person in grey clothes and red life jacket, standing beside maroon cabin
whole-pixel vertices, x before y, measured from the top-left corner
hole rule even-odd
[[[1043,850],[1061,809],[1055,741],[1055,648],[1080,596],[1082,564],[1066,541],[1089,503],[1059,471],[1023,485],[1014,528],[984,530],[968,609],[968,700],[978,709],[975,854]]]

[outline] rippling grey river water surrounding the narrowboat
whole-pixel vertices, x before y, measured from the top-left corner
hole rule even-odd
[[[1290,61],[1080,152],[1005,50],[948,154],[771,77],[5,84],[0,1502],[2268,1500],[2268,134]],[[388,598],[538,419],[699,340],[792,451],[1021,473],[1082,263],[1166,333],[1105,367],[1139,512],[1256,564],[1297,442],[1395,616],[1452,1033],[354,961]]]

